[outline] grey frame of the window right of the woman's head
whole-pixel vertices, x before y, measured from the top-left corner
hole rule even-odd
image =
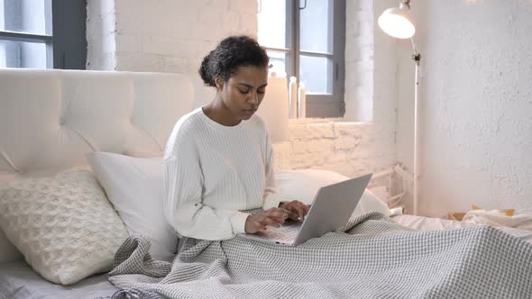
[[[259,12],[261,2],[259,0]],[[266,50],[285,53],[285,71],[287,75],[299,80],[299,55],[332,59],[333,74],[332,95],[312,94],[307,92],[307,117],[344,117],[344,82],[345,82],[345,0],[333,0],[333,53],[300,50],[300,11],[307,7],[307,0],[286,0],[286,37],[287,48],[264,46]]]

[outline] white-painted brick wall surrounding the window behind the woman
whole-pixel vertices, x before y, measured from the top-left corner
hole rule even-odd
[[[197,77],[201,59],[218,41],[257,34],[254,0],[89,0],[88,14],[88,69]],[[346,115],[368,122],[292,121],[289,141],[274,145],[276,168],[322,168],[353,177],[397,162],[396,121],[384,119],[395,107],[386,98],[392,92],[376,91],[386,82],[372,75],[373,20],[371,0],[347,0]],[[373,106],[374,94],[381,97]],[[379,122],[370,122],[374,115],[382,115]]]

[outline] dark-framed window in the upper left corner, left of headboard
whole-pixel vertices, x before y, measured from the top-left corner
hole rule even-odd
[[[0,68],[85,69],[86,0],[0,0]]]

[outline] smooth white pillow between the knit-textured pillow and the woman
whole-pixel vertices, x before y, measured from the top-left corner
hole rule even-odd
[[[87,160],[127,230],[151,240],[153,258],[171,261],[178,236],[163,213],[162,158],[94,152]]]

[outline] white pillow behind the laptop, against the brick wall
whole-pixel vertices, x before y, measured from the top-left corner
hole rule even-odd
[[[275,186],[283,195],[298,199],[305,204],[312,204],[320,187],[340,183],[346,179],[349,177],[329,170],[286,170],[275,173]],[[388,206],[366,189],[353,213],[362,214],[371,211],[390,215]]]

